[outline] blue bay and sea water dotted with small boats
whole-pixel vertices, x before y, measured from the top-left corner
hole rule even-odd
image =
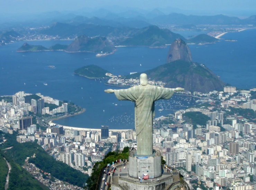
[[[226,83],[240,88],[255,87],[255,31],[251,29],[222,36],[225,39],[237,40],[236,42],[189,45],[193,61],[205,64]],[[56,43],[71,43],[64,40],[27,42],[45,47]],[[95,64],[115,75],[127,75],[164,64],[168,52],[168,48],[147,47],[118,47],[114,54],[105,57],[95,57],[94,53],[86,52],[16,52],[23,43],[0,46],[0,95],[25,91],[74,102],[86,108],[86,111],[55,123],[84,128],[100,128],[101,125],[109,125],[113,129],[134,128],[134,103],[118,101],[114,94],[104,93],[104,89],[120,87],[74,75],[75,69]],[[50,65],[56,68],[51,68]],[[195,101],[195,98],[179,95],[173,95],[170,100],[158,101],[156,117],[195,104]]]

